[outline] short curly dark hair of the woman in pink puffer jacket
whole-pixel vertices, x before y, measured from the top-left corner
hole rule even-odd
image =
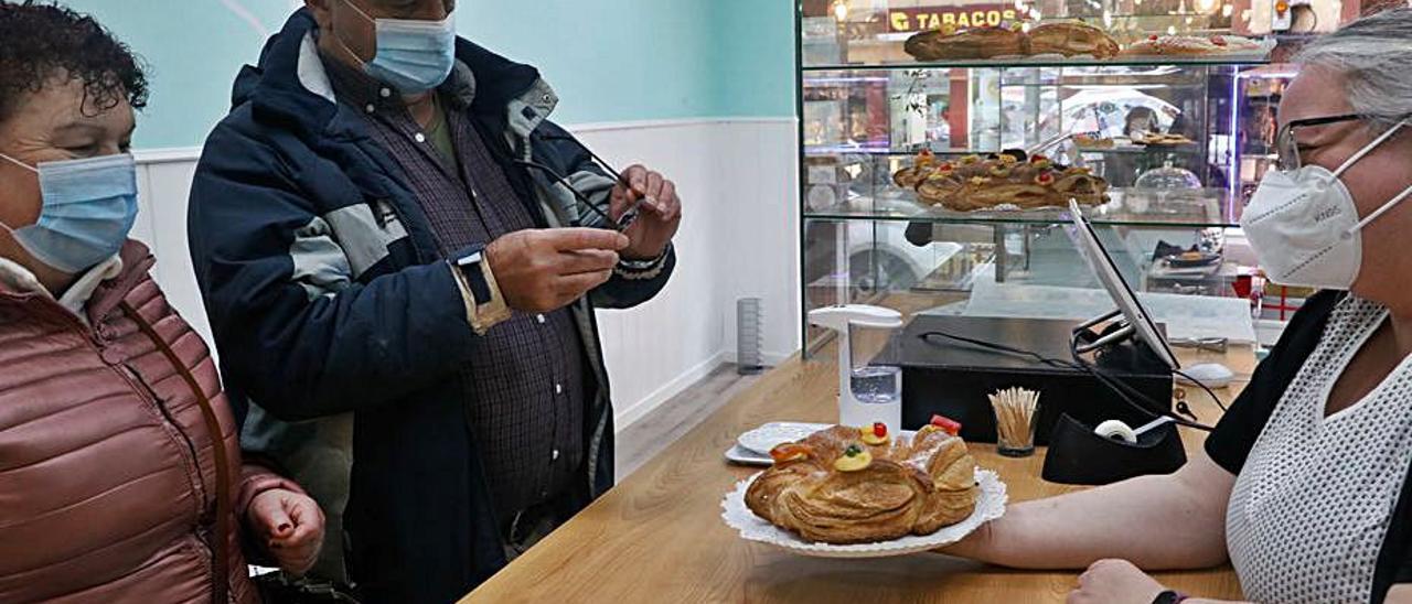
[[[133,51],[92,17],[51,1],[0,0],[0,123],[55,76],[83,82],[83,106],[147,106],[147,73]]]

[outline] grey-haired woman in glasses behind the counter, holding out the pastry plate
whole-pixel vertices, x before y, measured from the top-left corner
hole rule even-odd
[[[1412,601],[1412,8],[1299,62],[1243,226],[1275,282],[1327,291],[1186,467],[1015,505],[947,553],[1091,564],[1072,603],[1180,601],[1138,569],[1227,560],[1254,601]]]

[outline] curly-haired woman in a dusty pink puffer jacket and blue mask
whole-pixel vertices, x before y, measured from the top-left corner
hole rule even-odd
[[[250,603],[243,540],[299,573],[322,539],[126,240],[145,93],[90,18],[0,0],[0,601]]]

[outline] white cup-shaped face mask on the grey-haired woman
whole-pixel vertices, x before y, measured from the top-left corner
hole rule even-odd
[[[1363,267],[1363,229],[1412,196],[1412,186],[1358,220],[1353,195],[1340,178],[1406,124],[1404,120],[1394,126],[1333,172],[1306,165],[1265,174],[1241,215],[1241,227],[1272,281],[1326,289],[1353,286]]]

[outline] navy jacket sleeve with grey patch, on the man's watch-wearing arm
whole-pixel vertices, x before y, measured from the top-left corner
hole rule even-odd
[[[220,126],[192,183],[192,261],[232,384],[284,421],[377,406],[443,380],[476,346],[445,262],[367,284],[289,159]]]

